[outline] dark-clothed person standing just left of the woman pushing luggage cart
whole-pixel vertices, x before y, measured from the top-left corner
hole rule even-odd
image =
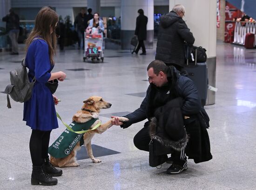
[[[81,42],[83,42],[84,49],[84,31],[87,26],[87,15],[85,13],[85,9],[81,8],[81,12],[75,17],[74,20],[74,28],[78,34],[78,49],[81,49]]]

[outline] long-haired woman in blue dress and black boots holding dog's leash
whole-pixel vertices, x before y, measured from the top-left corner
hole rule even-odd
[[[55,27],[57,13],[50,7],[43,7],[35,18],[35,26],[26,40],[27,55],[25,63],[29,69],[30,81],[35,79],[31,99],[24,103],[23,120],[31,127],[29,149],[33,164],[31,184],[55,185],[53,176],[61,176],[62,170],[49,162],[48,146],[50,133],[58,128],[55,105],[58,98],[45,85],[47,81],[66,78],[64,72],[53,72],[56,49]]]

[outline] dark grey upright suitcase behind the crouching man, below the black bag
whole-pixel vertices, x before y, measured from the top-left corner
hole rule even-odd
[[[195,50],[195,63],[189,63],[189,59],[187,59],[187,65],[182,68],[182,71],[186,71],[187,77],[195,83],[202,106],[204,106],[208,92],[208,67],[206,62],[197,63],[196,57],[197,50]]]

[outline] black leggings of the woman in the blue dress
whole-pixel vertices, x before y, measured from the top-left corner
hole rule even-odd
[[[42,158],[48,157],[51,131],[32,130],[29,150],[33,165],[42,165]]]

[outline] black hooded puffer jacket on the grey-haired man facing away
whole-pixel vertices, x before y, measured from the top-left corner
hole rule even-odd
[[[184,66],[185,41],[188,44],[195,41],[185,21],[174,11],[161,16],[155,59],[167,65]]]

